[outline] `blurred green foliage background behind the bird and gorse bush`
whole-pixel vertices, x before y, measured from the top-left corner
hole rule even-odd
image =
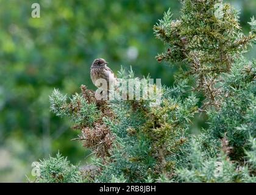
[[[38,2],[41,17],[31,17]],[[248,32],[255,0],[229,1]],[[152,27],[179,0],[0,0],[0,182],[26,182],[31,163],[60,151],[82,165],[90,154],[66,119],[49,112],[49,94],[79,92],[90,80],[93,59],[103,57],[116,73],[131,65],[137,76],[151,74],[171,86],[176,71],[155,55],[165,49]],[[256,50],[247,54],[255,57]]]

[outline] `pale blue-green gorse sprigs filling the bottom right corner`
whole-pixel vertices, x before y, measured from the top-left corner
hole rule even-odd
[[[237,165],[223,151],[215,157],[208,157],[195,140],[190,147],[190,163],[187,168],[176,171],[179,182],[256,182],[256,177],[251,174],[251,165]],[[255,155],[255,149],[249,154],[253,153]]]

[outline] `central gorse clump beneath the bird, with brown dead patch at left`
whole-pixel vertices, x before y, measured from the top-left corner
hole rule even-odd
[[[134,76],[131,71],[122,72],[129,78]],[[143,182],[151,175],[157,179],[162,174],[171,174],[176,160],[183,163],[179,158],[188,141],[190,119],[197,112],[196,97],[181,97],[185,83],[177,86],[175,93],[163,88],[166,97],[159,107],[150,107],[149,102],[142,98],[136,101],[99,101],[94,98],[93,91],[85,86],[81,88],[82,93],[73,96],[68,103],[63,98],[65,96],[54,90],[50,98],[51,110],[71,119],[75,117],[73,128],[82,130],[77,139],[101,157],[97,165],[105,174],[96,176],[97,180],[107,182],[113,176],[123,174],[129,182]],[[84,113],[84,108],[89,107],[95,107],[95,112],[87,109]],[[69,115],[70,112],[73,114]],[[94,119],[91,125],[90,118]]]

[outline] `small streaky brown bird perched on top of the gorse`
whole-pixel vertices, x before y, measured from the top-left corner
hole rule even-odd
[[[108,68],[107,64],[104,59],[95,59],[91,65],[91,81],[96,87],[101,87],[105,91],[111,89],[110,85],[114,85],[114,83],[116,85],[118,83],[115,74]],[[105,79],[107,86],[102,85],[98,79]]]

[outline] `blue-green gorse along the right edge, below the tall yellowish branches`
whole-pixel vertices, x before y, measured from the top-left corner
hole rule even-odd
[[[208,111],[210,132],[215,138],[227,137],[232,160],[244,161],[244,150],[250,148],[249,138],[256,137],[255,95],[256,64],[240,59],[230,73],[224,74],[220,85],[224,97],[218,111]]]

